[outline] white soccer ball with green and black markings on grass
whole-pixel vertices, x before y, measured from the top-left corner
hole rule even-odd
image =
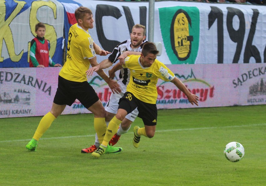
[[[245,149],[238,142],[230,142],[224,147],[225,158],[231,162],[238,162],[244,157]]]

